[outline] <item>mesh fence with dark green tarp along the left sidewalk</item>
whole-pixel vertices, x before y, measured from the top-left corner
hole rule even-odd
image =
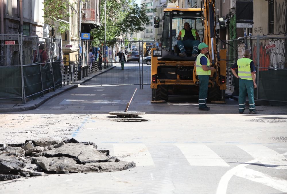
[[[26,99],[43,96],[50,89],[61,87],[63,68],[60,40],[15,34],[0,37],[1,99],[20,98],[25,103]],[[43,50],[47,56],[42,57],[42,63],[39,54],[40,44],[44,45]]]

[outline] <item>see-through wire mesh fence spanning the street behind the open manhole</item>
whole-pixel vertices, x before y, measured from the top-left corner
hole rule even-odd
[[[63,83],[84,84],[135,84],[149,85],[151,66],[143,62],[147,46],[158,47],[158,42],[143,41],[63,41],[63,62],[65,65]],[[71,50],[78,53],[72,54]],[[88,58],[92,49],[94,61]],[[98,61],[98,50],[102,62]],[[70,53],[69,53],[70,52]],[[120,62],[124,53],[126,62]],[[69,54],[68,54],[69,53]],[[151,53],[149,53],[151,54]],[[108,70],[108,71],[107,71]]]

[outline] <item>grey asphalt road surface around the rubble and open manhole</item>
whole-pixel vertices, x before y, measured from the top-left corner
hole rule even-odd
[[[287,193],[287,143],[280,138],[287,136],[286,106],[257,106],[259,114],[248,115],[238,114],[238,102],[229,99],[208,104],[206,112],[198,111],[196,96],[151,104],[149,85],[120,85],[122,76],[115,72],[122,70],[113,71],[107,74],[118,85],[90,80],[38,109],[1,114],[0,142],[73,137],[136,167],[0,182],[0,193]],[[124,111],[135,88],[129,111],[146,112],[137,118],[147,121],[117,122],[108,112]]]

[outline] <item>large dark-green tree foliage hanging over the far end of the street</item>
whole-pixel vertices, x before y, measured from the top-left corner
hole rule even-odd
[[[106,0],[106,41],[115,41],[120,35],[143,31],[143,26],[150,23],[146,10],[145,3],[139,7],[134,0],[121,0],[120,3]],[[102,25],[90,31],[94,40],[104,40],[104,1],[101,1],[100,13]],[[106,45],[114,43],[107,42]]]

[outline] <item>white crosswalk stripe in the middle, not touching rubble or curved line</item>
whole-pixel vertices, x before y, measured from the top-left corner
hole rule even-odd
[[[229,165],[206,145],[175,144],[191,166],[226,166]]]

